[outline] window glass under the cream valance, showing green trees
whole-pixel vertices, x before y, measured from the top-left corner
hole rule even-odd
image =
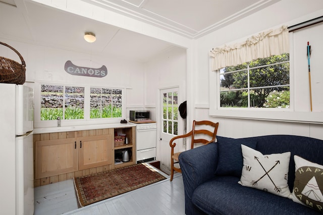
[[[220,107],[290,108],[289,54],[218,70]]]

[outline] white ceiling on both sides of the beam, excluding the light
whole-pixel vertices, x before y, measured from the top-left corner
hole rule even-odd
[[[74,0],[198,38],[279,0]],[[171,47],[165,41],[36,4],[0,0],[1,38],[146,62]],[[84,32],[96,34],[94,43]]]

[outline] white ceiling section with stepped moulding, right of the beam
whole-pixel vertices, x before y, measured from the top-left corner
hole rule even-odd
[[[280,0],[82,1],[194,38]]]

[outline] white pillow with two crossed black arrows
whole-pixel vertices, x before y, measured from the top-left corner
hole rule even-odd
[[[290,152],[262,155],[244,145],[241,149],[243,168],[239,184],[283,197],[291,194],[287,184]]]

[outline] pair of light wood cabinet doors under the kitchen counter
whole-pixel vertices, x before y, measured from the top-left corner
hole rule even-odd
[[[113,163],[111,134],[35,142],[35,179]]]

